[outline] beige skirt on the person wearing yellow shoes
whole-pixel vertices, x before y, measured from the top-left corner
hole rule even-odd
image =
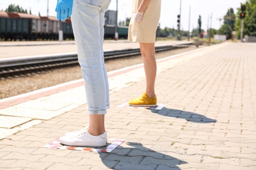
[[[161,0],[151,0],[144,11],[142,22],[135,21],[135,14],[142,0],[133,0],[133,9],[129,24],[128,40],[133,42],[156,42],[156,29],[161,13]]]

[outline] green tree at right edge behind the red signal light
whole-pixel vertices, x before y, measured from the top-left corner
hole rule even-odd
[[[256,0],[247,0],[246,3],[241,3],[241,6],[242,5],[245,5],[246,7],[244,18],[244,35],[256,36]],[[236,20],[235,24],[238,39],[240,39],[241,33],[241,12],[241,8],[238,8],[238,13],[236,14],[238,16],[238,20]]]

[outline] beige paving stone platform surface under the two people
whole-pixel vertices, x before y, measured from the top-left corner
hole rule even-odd
[[[43,148],[87,125],[86,103],[77,103],[2,139],[0,168],[254,170],[255,65],[255,43],[224,42],[159,59],[161,110],[119,107],[144,92],[145,80],[142,65],[116,71],[109,74],[106,130],[124,143],[110,153]]]

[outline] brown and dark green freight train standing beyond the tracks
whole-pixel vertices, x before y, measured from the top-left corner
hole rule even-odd
[[[63,39],[74,39],[70,18],[60,22],[55,16],[35,16],[19,12],[0,12],[0,39],[2,40],[57,40],[63,30]],[[104,38],[114,39],[116,27],[104,25]],[[127,39],[128,27],[118,27],[119,38]]]

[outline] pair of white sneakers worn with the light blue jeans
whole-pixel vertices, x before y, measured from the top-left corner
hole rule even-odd
[[[60,137],[60,143],[68,146],[106,146],[106,132],[98,136],[93,136],[85,129],[83,133]]]

